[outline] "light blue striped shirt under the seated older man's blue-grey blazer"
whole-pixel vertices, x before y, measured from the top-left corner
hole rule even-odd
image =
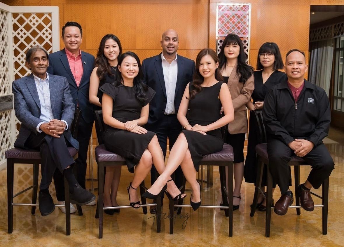
[[[40,122],[37,125],[36,130],[37,132],[42,133],[42,130],[40,130],[40,126],[54,119],[53,110],[51,109],[49,74],[46,73],[46,78],[44,80],[35,75],[33,75],[33,78],[35,79],[35,85],[36,85],[38,97],[40,99],[40,105],[41,105],[40,119],[42,120],[42,122]],[[66,124],[65,130],[67,130],[68,129],[67,122],[65,120],[61,120],[61,121],[63,121]]]

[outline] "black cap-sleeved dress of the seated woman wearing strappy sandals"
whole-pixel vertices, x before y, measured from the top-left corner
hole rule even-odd
[[[139,119],[142,107],[146,106],[155,95],[155,91],[149,87],[146,94],[147,100],[140,102],[135,97],[134,87],[115,86],[114,83],[106,83],[99,90],[114,99],[112,117],[120,122]],[[101,103],[101,98],[99,99]],[[139,163],[144,150],[154,135],[155,133],[151,131],[146,134],[137,134],[106,125],[104,144],[107,150],[125,157],[128,170],[133,172],[135,165]]]

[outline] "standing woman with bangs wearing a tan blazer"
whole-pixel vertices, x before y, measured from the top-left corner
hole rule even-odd
[[[246,104],[254,89],[254,68],[246,63],[243,43],[236,34],[228,34],[219,54],[221,74],[227,81],[234,107],[234,121],[228,124],[226,143],[234,151],[233,210],[239,209],[241,183],[244,178],[244,142],[248,132]],[[227,177],[227,176],[226,176]]]

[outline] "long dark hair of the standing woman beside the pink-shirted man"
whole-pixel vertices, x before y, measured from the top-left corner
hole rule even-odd
[[[108,39],[114,40],[118,44],[119,54],[118,57],[122,55],[122,45],[119,41],[118,37],[114,34],[106,34],[100,41],[97,57],[95,59],[95,65],[98,66],[97,68],[97,76],[101,80],[104,78],[104,75],[108,73],[110,76],[114,75],[111,71],[111,65],[109,64],[106,56],[104,55],[104,47],[105,42]],[[117,58],[118,60],[118,58]]]

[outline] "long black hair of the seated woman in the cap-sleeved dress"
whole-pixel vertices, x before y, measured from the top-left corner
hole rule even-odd
[[[146,95],[147,95],[148,86],[143,83],[143,73],[141,70],[140,58],[133,52],[125,52],[118,58],[118,65],[121,66],[124,58],[126,58],[127,56],[132,56],[133,58],[135,58],[137,62],[139,73],[134,78],[135,97],[140,102],[144,102],[145,100],[147,100]],[[116,87],[121,87],[123,86],[122,81],[123,81],[122,74],[118,73],[118,80],[114,82],[113,84]]]

